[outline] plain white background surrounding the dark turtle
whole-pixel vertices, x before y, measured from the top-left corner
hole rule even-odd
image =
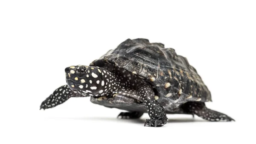
[[[39,110],[65,84],[64,68],[89,65],[128,38],[175,48],[211,91],[207,107],[236,122],[176,114],[143,127],[147,114],[116,119],[121,110],[88,97]],[[0,143],[255,143],[255,48],[253,1],[2,0]]]

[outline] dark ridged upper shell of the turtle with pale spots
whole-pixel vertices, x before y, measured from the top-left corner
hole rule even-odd
[[[90,65],[104,67],[110,63],[145,79],[163,105],[211,101],[211,93],[195,68],[173,48],[164,48],[162,43],[128,39]]]

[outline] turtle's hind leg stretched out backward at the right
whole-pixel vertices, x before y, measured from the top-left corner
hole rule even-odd
[[[183,104],[182,108],[187,113],[195,114],[208,121],[235,121],[224,113],[208,109],[204,102],[186,102]]]

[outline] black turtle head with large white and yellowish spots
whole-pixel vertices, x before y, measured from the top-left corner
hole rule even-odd
[[[101,68],[84,65],[65,68],[66,82],[71,90],[83,96],[99,96],[103,92]]]

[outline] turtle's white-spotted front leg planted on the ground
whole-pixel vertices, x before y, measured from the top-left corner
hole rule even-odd
[[[150,119],[147,119],[144,126],[162,127],[168,122],[165,108],[154,99],[154,91],[148,85],[143,85],[139,89],[143,103],[148,111]]]

